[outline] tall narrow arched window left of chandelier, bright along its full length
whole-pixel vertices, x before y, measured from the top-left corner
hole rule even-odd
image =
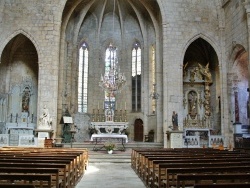
[[[88,107],[88,45],[84,42],[79,49],[78,112],[87,112]]]

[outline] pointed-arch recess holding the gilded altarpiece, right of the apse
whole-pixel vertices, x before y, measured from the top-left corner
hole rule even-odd
[[[218,65],[215,49],[204,38],[195,39],[187,47],[183,60],[184,129],[213,129],[215,134],[221,132]]]

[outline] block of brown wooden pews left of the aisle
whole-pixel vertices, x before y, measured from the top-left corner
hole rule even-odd
[[[88,150],[0,148],[0,187],[73,188],[88,167]]]

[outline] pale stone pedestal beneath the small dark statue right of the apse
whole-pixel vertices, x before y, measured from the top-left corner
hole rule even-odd
[[[182,148],[183,131],[167,131],[170,148]]]

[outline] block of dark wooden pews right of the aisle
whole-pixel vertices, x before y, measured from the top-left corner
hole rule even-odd
[[[250,187],[250,154],[242,151],[134,148],[131,166],[150,188]]]

